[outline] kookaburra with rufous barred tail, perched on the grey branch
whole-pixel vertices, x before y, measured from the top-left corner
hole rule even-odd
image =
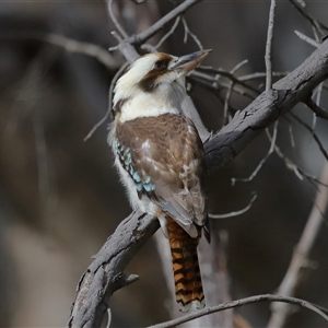
[[[209,52],[138,58],[116,83],[108,138],[132,208],[159,218],[168,238],[181,312],[204,307],[197,256],[201,232],[210,236],[204,153],[181,103],[185,75]]]

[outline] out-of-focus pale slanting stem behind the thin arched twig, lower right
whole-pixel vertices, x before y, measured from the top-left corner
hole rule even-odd
[[[328,185],[328,164],[326,162],[320,180]],[[308,216],[308,221],[304,227],[302,237],[294,249],[293,258],[290,267],[278,289],[279,295],[292,296],[300,281],[300,271],[307,267],[308,255],[316,241],[318,232],[323,223],[323,215],[327,210],[328,188],[319,186],[316,199]],[[268,324],[268,328],[280,328],[290,314],[289,304],[272,304],[272,315]]]

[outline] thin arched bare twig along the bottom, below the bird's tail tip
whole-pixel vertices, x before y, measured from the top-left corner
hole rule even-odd
[[[227,308],[239,307],[239,306],[244,306],[244,305],[247,305],[247,304],[254,304],[254,303],[259,303],[259,302],[283,302],[283,303],[298,305],[298,306],[306,307],[306,308],[317,313],[325,320],[328,320],[328,316],[326,314],[328,311],[326,311],[326,309],[323,311],[319,306],[317,306],[315,304],[312,304],[312,303],[306,302],[304,300],[294,298],[294,297],[263,294],[263,295],[257,295],[257,296],[241,298],[238,301],[232,301],[232,302],[223,303],[223,304],[220,304],[220,305],[216,305],[216,306],[211,306],[211,307],[198,311],[198,312],[194,312],[194,313],[188,314],[188,315],[184,315],[184,316],[181,316],[177,319],[171,320],[171,321],[166,321],[166,323],[163,323],[163,324],[150,326],[149,328],[176,327],[177,325],[190,321],[195,318],[199,318],[201,316],[206,316],[206,315],[209,315],[209,314],[214,313],[214,312],[224,311],[224,309],[227,309]]]

